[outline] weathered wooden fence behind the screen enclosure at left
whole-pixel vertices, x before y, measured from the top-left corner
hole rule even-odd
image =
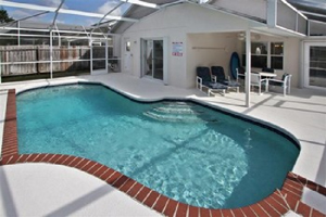
[[[109,56],[113,49],[109,47]],[[92,48],[93,59],[105,59],[105,47]],[[90,48],[82,47],[53,47],[53,72],[85,71],[90,67]],[[0,63],[2,76],[39,74],[50,72],[49,46],[5,46],[0,47]],[[14,64],[20,62],[20,64]],[[26,63],[25,63],[26,62]],[[36,63],[28,63],[36,62]],[[93,68],[104,68],[105,61],[93,61]]]

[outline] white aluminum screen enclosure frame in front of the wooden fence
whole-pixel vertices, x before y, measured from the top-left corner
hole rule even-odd
[[[123,16],[114,16],[110,15],[115,9],[120,8],[123,5],[125,2],[141,5],[141,7],[147,7],[151,9],[160,9],[159,5],[154,3],[148,3],[139,0],[121,0],[122,2],[115,7],[114,9],[110,10],[106,14],[100,14],[100,13],[92,13],[92,12],[85,12],[85,11],[77,11],[77,10],[67,10],[67,9],[62,9],[63,3],[65,0],[61,0],[60,4],[58,8],[53,7],[41,7],[41,5],[36,5],[32,3],[18,3],[18,2],[12,2],[12,1],[5,1],[5,0],[0,0],[0,4],[2,7],[12,7],[12,8],[20,8],[20,9],[28,9],[28,10],[36,10],[36,11],[42,11],[36,15],[33,16],[27,16],[24,18],[21,18],[17,22],[17,27],[10,27],[10,26],[0,26],[0,29],[3,30],[17,30],[16,34],[10,34],[10,33],[0,33],[0,36],[16,36],[17,37],[17,44],[21,44],[21,37],[33,37],[33,38],[49,38],[50,39],[50,61],[32,61],[32,62],[10,62],[10,63],[1,63],[0,62],[0,84],[1,84],[1,66],[2,65],[10,65],[10,64],[26,64],[26,63],[50,63],[50,78],[53,78],[53,63],[59,63],[59,62],[80,62],[80,61],[90,61],[90,73],[92,73],[92,61],[105,61],[105,69],[106,72],[109,71],[109,53],[108,53],[108,38],[110,36],[113,36],[114,34],[108,34],[108,33],[93,33],[96,28],[99,27],[100,23],[104,20],[108,21],[126,21],[126,22],[138,22],[138,20],[135,18],[128,18],[128,17],[123,17]],[[45,13],[49,12],[54,12],[54,18],[52,21],[52,24],[49,25],[49,28],[21,28],[20,26],[20,21],[23,20],[28,20],[29,17],[35,17],[38,15],[42,15]],[[58,15],[62,14],[71,14],[71,15],[80,15],[80,16],[87,16],[87,17],[96,17],[100,18],[98,24],[91,28],[90,31],[87,31],[86,28],[83,26],[84,31],[76,31],[76,30],[61,30],[57,26],[57,17]],[[12,24],[15,22],[11,22],[9,24]],[[37,35],[37,34],[21,34],[21,30],[30,30],[30,31],[40,31],[40,33],[48,33],[49,35]],[[58,36],[55,36],[55,34]],[[61,34],[75,34],[75,36],[63,36]],[[76,36],[76,35],[85,35],[85,36]],[[65,61],[53,61],[53,38],[58,37],[59,40],[61,38],[65,39],[88,39],[89,44],[90,44],[90,59],[84,59],[84,60],[65,60]],[[105,59],[92,59],[92,41],[93,40],[104,40],[105,41]],[[114,59],[116,60],[116,59]],[[118,59],[121,60],[121,59]]]

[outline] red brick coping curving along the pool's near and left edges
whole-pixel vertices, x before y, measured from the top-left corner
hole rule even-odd
[[[316,191],[325,196],[326,188],[291,171],[287,175],[280,190],[276,189],[269,196],[256,204],[231,209],[210,209],[191,206],[166,197],[105,165],[87,158],[62,154],[18,154],[15,90],[9,90],[8,92],[1,153],[0,166],[23,163],[48,163],[77,168],[105,181],[108,184],[125,192],[141,204],[165,216],[281,216],[289,210],[293,210],[294,213],[308,217],[326,217],[326,214],[322,214],[301,201],[303,187]]]

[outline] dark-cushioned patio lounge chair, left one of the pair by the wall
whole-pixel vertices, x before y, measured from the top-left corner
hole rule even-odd
[[[208,89],[208,95],[215,94],[215,91],[225,94],[227,87],[223,84],[216,82],[213,78],[209,67],[197,67],[196,87],[203,92],[203,87]]]

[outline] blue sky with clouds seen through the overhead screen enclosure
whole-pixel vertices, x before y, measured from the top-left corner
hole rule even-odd
[[[42,7],[54,7],[54,8],[59,7],[61,3],[61,0],[8,0],[8,1],[30,3],[36,5],[42,5]],[[105,14],[120,2],[121,1],[118,0],[65,0],[62,8]],[[112,13],[112,15],[117,15],[117,16],[123,15],[123,13],[128,9],[129,5],[130,5],[129,3],[123,4],[122,7],[116,9]],[[3,7],[3,9],[5,9],[8,11],[9,16],[13,17],[14,20],[24,18],[42,12],[42,11],[26,10],[26,9],[10,8],[10,7]],[[48,13],[45,15],[29,18],[28,21],[52,23],[53,17],[54,17],[54,13]],[[100,18],[92,18],[92,17],[77,16],[77,15],[70,15],[70,14],[59,14],[57,17],[57,23],[90,26],[92,24],[98,23],[99,20]]]

